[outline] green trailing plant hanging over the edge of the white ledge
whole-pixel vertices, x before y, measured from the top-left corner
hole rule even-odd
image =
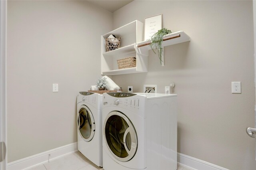
[[[163,36],[171,33],[172,33],[171,30],[162,28],[161,30],[158,30],[158,32],[156,32],[151,38],[150,48],[155,54],[156,54],[155,50],[157,50],[161,65],[162,65],[162,51],[163,51],[163,47],[162,47]]]

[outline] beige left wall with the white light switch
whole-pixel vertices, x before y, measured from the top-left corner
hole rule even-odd
[[[8,162],[77,141],[76,95],[101,76],[112,16],[86,1],[8,1]]]

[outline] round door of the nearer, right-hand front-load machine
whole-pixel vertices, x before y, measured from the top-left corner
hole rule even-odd
[[[123,113],[114,111],[104,122],[104,136],[110,153],[122,162],[133,158],[137,151],[138,138],[131,121]]]

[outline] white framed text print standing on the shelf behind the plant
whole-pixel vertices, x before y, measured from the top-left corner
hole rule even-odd
[[[151,37],[162,29],[162,14],[151,16],[144,19],[144,41],[151,39]]]

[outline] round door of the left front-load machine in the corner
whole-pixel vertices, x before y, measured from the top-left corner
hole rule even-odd
[[[77,115],[78,132],[80,136],[89,142],[95,133],[95,122],[90,109],[83,105]]]

